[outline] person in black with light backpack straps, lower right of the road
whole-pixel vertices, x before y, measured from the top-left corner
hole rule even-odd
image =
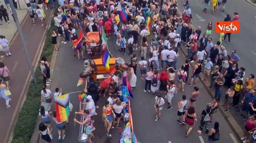
[[[205,133],[209,132],[209,125],[211,121],[211,115],[212,115],[212,110],[211,110],[211,103],[208,103],[206,106],[206,109],[204,109],[201,113],[201,121],[200,121],[200,130],[203,131],[203,127],[205,127],[206,131]]]

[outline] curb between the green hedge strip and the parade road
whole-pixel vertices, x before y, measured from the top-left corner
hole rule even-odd
[[[53,17],[53,15],[52,15]],[[50,26],[48,27],[50,28]],[[44,38],[45,39],[45,38]],[[57,45],[59,46],[60,44],[60,41],[61,41],[61,37],[58,38],[58,42],[57,42]],[[55,68],[55,63],[56,63],[56,59],[57,59],[57,54],[58,54],[58,51],[56,51],[55,49],[53,49],[53,53],[52,53],[52,58],[51,58],[51,69],[50,69],[50,73],[51,75],[53,74],[53,71],[54,71],[54,68]],[[51,85],[50,85],[51,86]],[[41,139],[41,136],[40,136],[40,133],[39,133],[39,130],[38,130],[38,126],[41,122],[41,118],[38,116],[37,117],[37,121],[36,121],[36,125],[35,125],[35,128],[34,128],[34,131],[33,131],[33,134],[32,134],[32,137],[31,137],[31,140],[30,142],[36,142],[38,143],[39,140]]]

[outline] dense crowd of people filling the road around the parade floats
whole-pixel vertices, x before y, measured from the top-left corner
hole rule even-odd
[[[205,0],[204,12],[207,11],[210,1]],[[38,2],[36,7],[31,9],[28,6],[30,17],[34,16],[41,20],[45,18],[44,10],[46,6],[42,6],[44,2]],[[215,92],[215,97],[210,103],[206,104],[206,108],[201,112],[200,130],[206,129],[208,141],[213,142],[220,139],[220,128],[218,121],[214,122],[214,127],[209,128],[213,115],[217,112],[221,95],[223,95],[224,87],[228,87],[225,92],[224,105],[225,112],[230,110],[230,104],[237,106],[243,114],[241,117],[246,121],[245,142],[253,135],[255,125],[254,112],[256,111],[256,89],[254,85],[254,75],[250,74],[245,78],[245,68],[239,67],[240,60],[235,49],[228,54],[223,44],[226,36],[228,44],[230,43],[231,33],[220,35],[220,39],[213,44],[211,32],[213,24],[208,23],[206,31],[201,30],[198,26],[196,30],[192,28],[192,12],[188,0],[184,1],[183,15],[180,17],[177,13],[178,2],[176,0],[164,1],[163,5],[157,1],[138,1],[138,2],[120,2],[123,9],[127,13],[126,20],[120,19],[117,11],[119,3],[108,1],[58,1],[58,12],[54,19],[56,31],[52,32],[52,44],[58,51],[56,38],[63,38],[62,44],[78,39],[77,28],[82,28],[85,33],[99,31],[102,33],[104,28],[106,37],[109,41],[117,44],[117,49],[124,56],[130,57],[126,68],[116,67],[111,82],[106,89],[105,96],[109,96],[105,101],[102,109],[104,125],[107,137],[112,137],[110,131],[114,127],[121,128],[120,120],[125,118],[123,109],[126,106],[124,99],[119,95],[119,91],[124,84],[123,77],[128,76],[128,80],[132,88],[136,87],[136,82],[140,77],[145,81],[144,92],[156,95],[154,108],[156,110],[156,118],[158,121],[161,117],[161,110],[165,102],[167,109],[171,110],[173,97],[177,92],[183,93],[186,85],[194,86],[190,96],[183,95],[181,101],[178,102],[177,123],[186,125],[186,137],[189,137],[194,123],[198,118],[196,114],[196,101],[199,99],[199,87],[197,86],[200,75],[205,83],[210,83],[210,88]],[[220,4],[218,1],[212,1],[212,13],[216,9],[216,5],[222,5],[221,10],[224,11],[226,1]],[[147,19],[151,17],[152,25],[147,26]],[[234,16],[227,15],[224,21],[238,20],[238,13]],[[35,20],[33,19],[35,25]],[[79,26],[80,25],[80,26]],[[203,33],[203,34],[201,34]],[[112,35],[112,37],[111,37]],[[111,40],[110,40],[111,39]],[[150,40],[151,39],[151,40]],[[85,41],[85,39],[84,39]],[[128,51],[125,49],[128,48]],[[187,59],[183,65],[178,65],[179,51],[181,48],[187,49]],[[136,54],[140,52],[140,55]],[[86,44],[79,49],[74,49],[74,56],[85,59]],[[7,54],[10,55],[10,52]],[[1,68],[1,67],[0,67]],[[140,74],[137,74],[137,68]],[[55,120],[58,128],[58,139],[65,139],[65,126],[68,122],[58,123],[56,120],[56,111],[51,109],[51,98],[59,96],[62,91],[56,88],[56,92],[47,89],[50,79],[50,63],[46,59],[41,61],[41,73],[44,78],[45,87],[41,92],[41,118],[42,123],[39,130],[42,139],[50,142],[51,137],[51,119]],[[1,70],[0,70],[1,71]],[[189,78],[191,77],[191,78]],[[5,79],[6,80],[6,79]],[[176,81],[178,84],[176,85]],[[7,82],[6,82],[7,84]],[[5,88],[1,84],[2,88]],[[7,86],[9,87],[9,85]],[[86,134],[90,138],[94,135],[93,118],[97,116],[98,108],[97,94],[98,87],[95,83],[90,83],[89,92],[86,97],[86,108],[75,112],[84,115],[85,120],[80,122],[73,119],[76,123],[86,126]],[[1,90],[2,91],[2,90]],[[189,99],[188,99],[189,98]],[[10,99],[6,98],[6,102]],[[70,103],[71,104],[71,103]],[[9,104],[6,103],[8,106]],[[53,111],[53,112],[51,112]],[[70,109],[72,111],[72,108]],[[248,115],[249,113],[249,115]],[[53,116],[51,115],[53,114]],[[250,116],[250,117],[249,117]],[[215,120],[218,120],[217,118]]]

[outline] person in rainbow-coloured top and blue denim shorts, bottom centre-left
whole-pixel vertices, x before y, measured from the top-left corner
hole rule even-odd
[[[109,132],[110,132],[110,128],[114,128],[112,126],[112,123],[115,116],[116,115],[114,114],[112,110],[112,106],[109,104],[109,101],[105,101],[105,105],[103,106],[103,109],[102,109],[102,117],[106,127],[106,135],[109,138],[112,137],[112,135]]]

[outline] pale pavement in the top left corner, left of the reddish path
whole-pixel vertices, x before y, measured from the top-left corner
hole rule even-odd
[[[4,35],[6,37],[6,39],[10,42],[17,31],[17,27],[14,22],[14,18],[12,18],[12,16],[11,16],[10,10],[8,8],[6,8],[4,0],[0,0],[0,5],[2,5],[2,4],[4,5],[4,8],[7,9],[8,13],[9,13],[10,23],[9,24],[5,23],[4,18],[3,18],[2,25],[0,25],[0,35]],[[25,19],[25,16],[27,13],[27,7],[25,4],[25,1],[19,1],[19,4],[21,4],[21,9],[19,9],[19,6],[18,6],[18,9],[16,9],[16,11],[17,11],[19,23],[21,24],[22,21]]]

